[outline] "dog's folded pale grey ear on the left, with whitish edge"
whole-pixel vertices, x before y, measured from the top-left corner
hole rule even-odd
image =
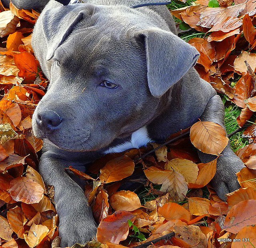
[[[90,18],[96,9],[92,4],[73,4],[49,9],[42,13],[42,29],[47,43],[46,60],[54,56],[56,49],[68,38],[74,27]]]

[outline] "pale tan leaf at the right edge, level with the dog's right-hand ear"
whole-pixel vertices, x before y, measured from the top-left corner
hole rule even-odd
[[[242,51],[234,61],[234,69],[238,74],[247,73],[247,66],[244,61],[247,61],[253,71],[256,68],[256,54]]]

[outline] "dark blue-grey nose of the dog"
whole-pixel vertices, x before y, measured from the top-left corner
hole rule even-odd
[[[36,124],[45,133],[51,133],[60,127],[62,118],[52,110],[38,113],[36,116]]]

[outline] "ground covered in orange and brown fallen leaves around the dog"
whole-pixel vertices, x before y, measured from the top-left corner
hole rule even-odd
[[[227,144],[222,128],[211,122],[197,122],[190,137],[183,136],[143,159],[138,158],[158,144],[106,155],[90,166],[88,174],[68,167],[86,180],[85,195],[99,224],[98,241],[86,247],[134,247],[145,242],[152,246],[150,242],[171,233],[171,238],[154,242],[154,247],[255,248],[256,2],[183,0],[168,7],[179,36],[200,52],[196,70],[223,99],[228,132],[236,125],[246,127],[232,138],[233,149],[246,164],[237,174],[241,188],[224,202],[210,187],[216,160],[200,163],[196,148],[219,155]],[[0,4],[3,248],[59,245],[54,188],[46,186],[36,171],[42,141],[33,135],[31,123],[48,85],[31,47],[38,16],[34,10],[18,10],[12,4],[5,9]],[[145,187],[118,191],[124,184]]]

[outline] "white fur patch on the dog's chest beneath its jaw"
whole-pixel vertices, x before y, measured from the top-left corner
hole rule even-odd
[[[132,133],[130,141],[127,141],[124,144],[120,144],[118,146],[110,147],[104,152],[104,154],[123,152],[131,148],[140,148],[142,146],[146,146],[146,144],[149,142],[154,142],[154,140],[151,140],[148,137],[147,128],[144,126]]]

